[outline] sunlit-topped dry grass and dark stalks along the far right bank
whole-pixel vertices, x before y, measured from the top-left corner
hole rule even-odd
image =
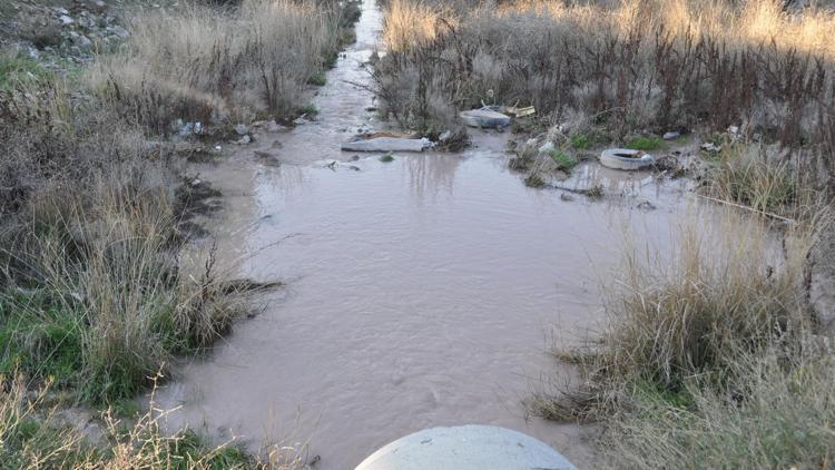
[[[773,0],[438,3],[386,9],[393,46],[376,89],[404,125],[446,123],[492,90],[615,138],[736,125],[785,146],[831,146],[833,13],[788,13]]]

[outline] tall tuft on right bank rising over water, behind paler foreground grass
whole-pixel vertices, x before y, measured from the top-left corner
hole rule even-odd
[[[670,260],[629,251],[607,294],[600,345],[558,352],[579,364],[580,386],[537,394],[533,411],[608,425],[648,391],[678,405],[698,391],[735,393],[739,361],[794,351],[814,331],[803,280],[827,219],[788,231],[784,252],[764,219],[743,223],[733,212],[709,227],[686,226]]]

